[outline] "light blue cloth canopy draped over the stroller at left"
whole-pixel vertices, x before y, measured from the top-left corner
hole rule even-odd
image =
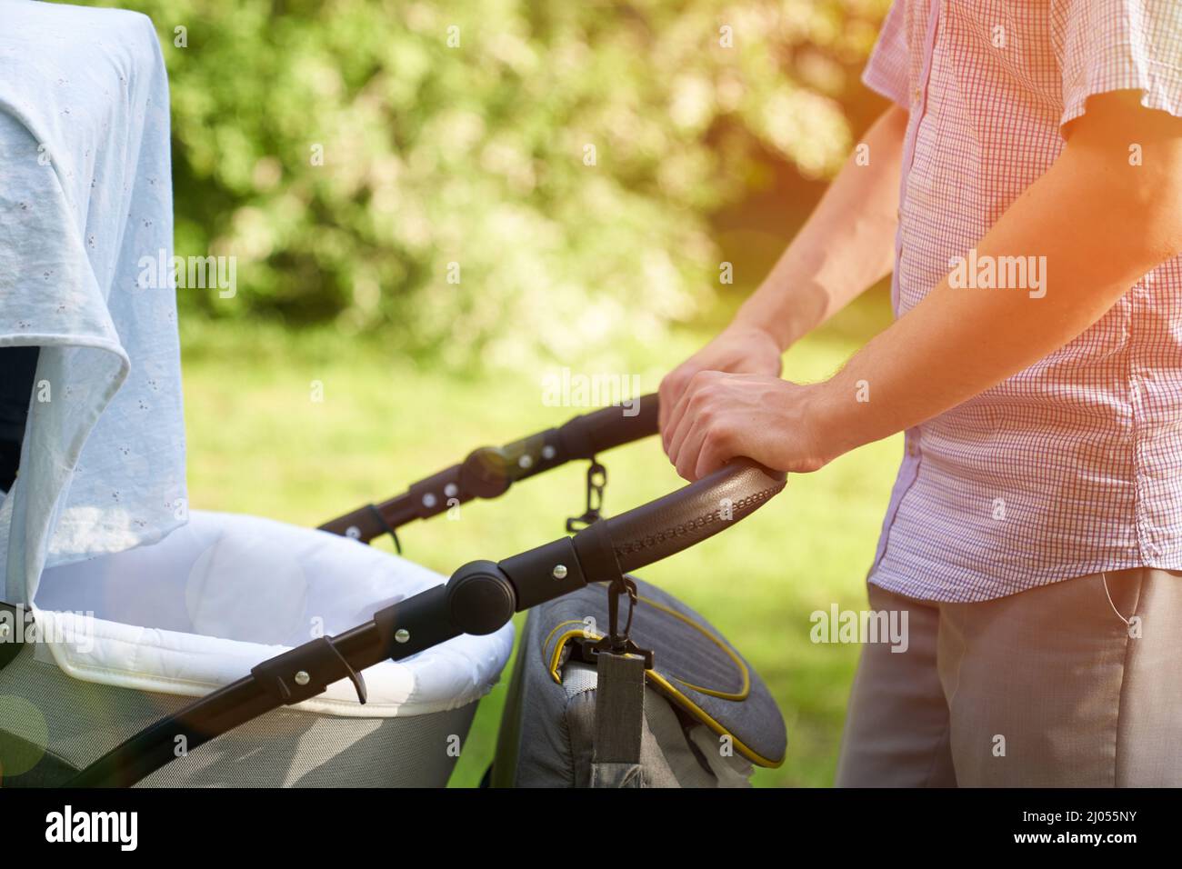
[[[0,359],[40,346],[0,599],[184,521],[168,79],[151,21],[0,0]],[[157,270],[158,271],[158,270]]]

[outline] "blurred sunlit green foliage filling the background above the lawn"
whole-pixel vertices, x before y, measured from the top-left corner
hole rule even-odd
[[[462,367],[701,310],[709,216],[769,160],[845,158],[888,0],[111,5],[152,18],[169,65],[177,253],[238,258],[236,297],[182,305]]]

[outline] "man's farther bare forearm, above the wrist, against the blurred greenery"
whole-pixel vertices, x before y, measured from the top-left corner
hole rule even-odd
[[[890,272],[905,130],[900,106],[873,123],[735,323],[787,348]]]

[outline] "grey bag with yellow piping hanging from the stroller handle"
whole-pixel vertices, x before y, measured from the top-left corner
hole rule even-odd
[[[745,787],[752,764],[784,761],[784,719],[759,675],[701,616],[632,579],[629,633],[651,669],[589,653],[606,631],[604,583],[531,610],[494,787]]]

